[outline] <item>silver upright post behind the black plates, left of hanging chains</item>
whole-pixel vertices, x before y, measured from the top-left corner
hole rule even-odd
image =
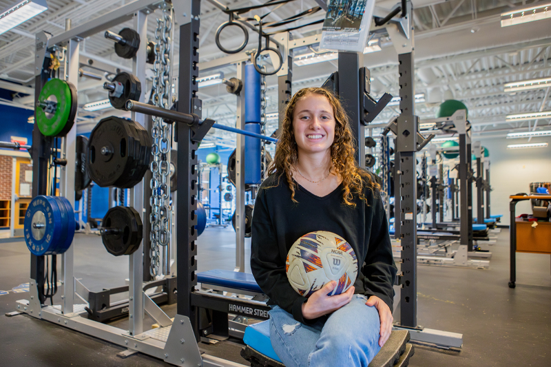
[[[134,15],[134,29],[140,34],[140,51],[136,54],[134,61],[132,62],[132,72],[138,77],[138,80],[145,83],[145,48],[147,47],[147,14],[139,11]],[[145,101],[144,94],[140,96],[140,102]],[[141,126],[145,126],[145,116],[143,114],[136,114],[132,112],[132,120]],[[147,129],[147,127],[146,127]],[[130,189],[130,203],[131,207],[134,207],[142,217],[142,222],[149,220],[149,218],[143,218],[143,186],[144,180],[138,185]],[[149,235],[149,233],[147,233]],[[146,233],[143,233],[143,238],[147,238]],[[143,313],[144,313],[144,300],[143,300],[143,240],[132,255],[129,255],[129,284],[128,284],[128,317],[129,317],[129,334],[138,335],[143,333]]]

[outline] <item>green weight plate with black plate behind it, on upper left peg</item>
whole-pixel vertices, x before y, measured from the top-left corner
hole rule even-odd
[[[61,79],[44,84],[35,108],[36,123],[45,136],[65,136],[74,124],[76,89]]]

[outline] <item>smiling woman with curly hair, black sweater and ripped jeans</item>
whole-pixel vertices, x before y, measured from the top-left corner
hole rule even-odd
[[[340,102],[322,88],[298,91],[255,202],[251,270],[268,295],[270,339],[285,366],[367,366],[391,335],[396,277],[388,222],[377,185],[357,167]],[[287,280],[291,245],[330,231],[353,247],[354,286],[327,296],[336,282],[305,298]],[[363,264],[363,265],[361,265]]]

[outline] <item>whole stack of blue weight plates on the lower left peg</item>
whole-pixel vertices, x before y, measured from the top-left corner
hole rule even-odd
[[[29,251],[37,256],[64,253],[73,240],[74,222],[74,211],[67,199],[35,197],[28,206],[23,224]]]

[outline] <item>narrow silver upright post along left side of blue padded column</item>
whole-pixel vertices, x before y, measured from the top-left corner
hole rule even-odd
[[[237,63],[237,78],[243,89],[237,97],[236,127],[245,129],[245,62]],[[245,272],[245,136],[236,138],[236,267],[234,271]]]

